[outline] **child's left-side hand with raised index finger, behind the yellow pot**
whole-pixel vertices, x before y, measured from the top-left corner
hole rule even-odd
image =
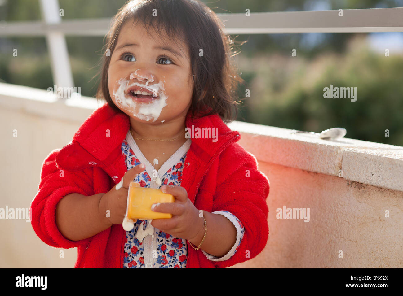
[[[116,186],[118,186],[119,183],[116,184],[112,187],[111,190],[109,190],[108,193],[105,193],[105,195],[102,197],[102,199],[105,199],[105,209],[103,210],[103,213],[104,215],[106,215],[106,211],[110,211],[110,217],[107,216],[110,223],[122,224],[127,209],[127,195],[129,193],[129,184],[138,174],[143,172],[144,169],[144,164],[139,164],[138,166],[131,168],[123,176],[123,186],[120,189],[116,190]]]

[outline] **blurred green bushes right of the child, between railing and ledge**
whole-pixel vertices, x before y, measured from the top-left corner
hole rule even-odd
[[[314,132],[343,127],[348,138],[403,145],[403,55],[372,52],[357,37],[343,55],[307,60],[290,54],[281,60],[282,68],[275,63],[278,56],[266,59],[249,70],[262,72],[268,83],[251,87],[242,112],[245,121]],[[273,76],[281,77],[280,86]],[[323,89],[330,85],[357,87],[357,101],[324,98]],[[386,129],[390,137],[385,137]]]

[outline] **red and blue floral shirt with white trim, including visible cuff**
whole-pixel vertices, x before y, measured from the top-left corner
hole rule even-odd
[[[185,165],[187,151],[191,139],[187,141],[162,164],[157,171],[144,157],[135,143],[130,132],[122,143],[122,153],[126,157],[127,170],[141,163],[145,164],[145,171],[133,181],[141,187],[160,188],[162,185],[181,185],[182,169]],[[158,186],[158,184],[160,184]],[[228,218],[237,229],[237,240],[231,250],[223,257],[212,256],[204,250],[202,252],[212,261],[224,261],[231,258],[237,251],[245,228],[241,221],[229,211],[215,211],[215,214]],[[137,220],[131,231],[126,232],[124,246],[123,268],[186,268],[187,242],[182,238],[175,238],[168,233],[154,228],[152,220]]]

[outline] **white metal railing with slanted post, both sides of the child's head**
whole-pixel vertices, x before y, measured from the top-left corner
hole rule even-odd
[[[39,0],[43,21],[0,22],[2,36],[46,36],[54,84],[74,87],[65,35],[104,36],[110,18],[62,21],[58,0]],[[342,9],[342,8],[341,8]],[[227,34],[403,32],[403,8],[217,14]]]

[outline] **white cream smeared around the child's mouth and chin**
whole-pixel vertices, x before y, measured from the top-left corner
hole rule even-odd
[[[137,72],[137,71],[136,71]],[[133,73],[130,75],[130,78],[133,77]],[[150,82],[154,81],[154,79],[150,79]],[[123,108],[130,112],[133,112],[133,116],[145,120],[145,121],[156,121],[161,114],[162,108],[167,106],[166,99],[168,96],[165,94],[165,88],[162,81],[157,84],[148,85],[147,83],[141,84],[138,82],[133,82],[131,79],[122,78],[116,81],[115,87],[113,89],[113,95],[116,100],[116,105],[119,108]],[[147,89],[152,89],[153,94],[158,94],[157,99],[150,99],[150,102],[137,102],[135,99],[125,92],[129,89],[129,87],[139,86],[146,87]]]

